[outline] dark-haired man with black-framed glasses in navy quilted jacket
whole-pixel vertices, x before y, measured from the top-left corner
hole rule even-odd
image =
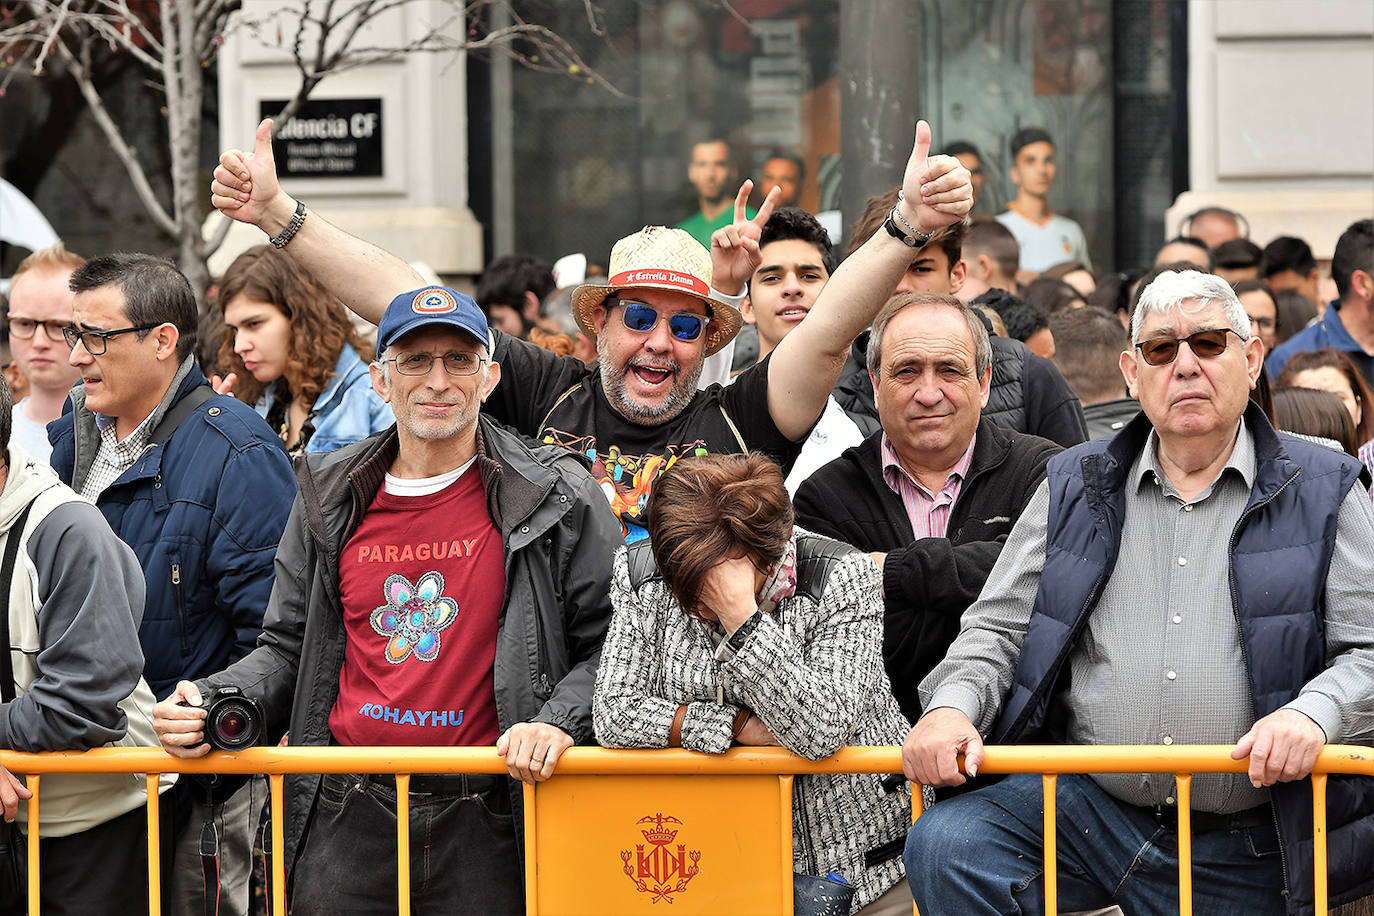
[[[70,288],[65,336],[80,383],[70,409],[48,426],[49,460],[139,558],[143,677],[162,698],[180,678],[218,672],[253,650],[295,478],[262,417],[214,394],[196,367],[195,295],[172,262],[100,255],[77,268]],[[203,909],[209,816],[220,828],[218,912],[249,911],[251,795],[249,784],[214,805],[179,787],[165,814],[165,823],[184,821],[164,871],[174,912]]]

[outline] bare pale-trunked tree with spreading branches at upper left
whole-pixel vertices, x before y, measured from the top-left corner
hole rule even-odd
[[[0,0],[5,3],[7,0]],[[179,247],[181,271],[202,291],[205,260],[224,242],[229,221],[221,221],[207,240],[201,238],[203,207],[196,155],[201,147],[203,69],[213,63],[225,34],[239,29],[290,55],[300,76],[295,93],[279,121],[295,114],[323,80],[335,73],[404,59],[408,54],[473,52],[507,55],[521,66],[584,84],[599,85],[624,98],[589,66],[572,41],[554,29],[521,18],[511,0],[426,0],[427,18],[411,16],[411,37],[382,44],[376,23],[416,0],[276,0],[254,4],[246,15],[243,0],[8,0],[0,5],[0,54],[11,58],[0,74],[0,93],[21,69],[44,76],[66,71],[91,108],[106,143],[128,173],[135,195],[153,222]],[[727,10],[732,7],[725,0]],[[500,11],[506,25],[492,27]],[[594,0],[581,1],[587,27],[606,40],[602,12]],[[738,14],[734,14],[738,16]],[[275,29],[275,41],[271,30]],[[284,30],[290,38],[284,38]],[[117,55],[136,62],[147,85],[165,104],[170,209],[158,198],[140,161],[110,114],[93,78],[95,60]]]

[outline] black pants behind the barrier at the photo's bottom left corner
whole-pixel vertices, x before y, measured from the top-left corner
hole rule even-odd
[[[40,839],[38,873],[43,916],[146,916],[147,809],[139,805],[80,834]],[[22,916],[26,911],[27,901],[3,916]]]

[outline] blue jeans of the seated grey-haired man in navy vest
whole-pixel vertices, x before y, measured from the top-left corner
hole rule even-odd
[[[1132,916],[1179,912],[1178,832],[1088,776],[1058,780],[1061,912],[1118,904]],[[1039,775],[934,805],[907,835],[907,880],[922,916],[1044,912],[1044,802]],[[1193,911],[1282,916],[1274,825],[1193,832]]]

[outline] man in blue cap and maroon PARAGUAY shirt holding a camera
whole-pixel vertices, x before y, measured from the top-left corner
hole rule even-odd
[[[376,347],[396,426],[305,457],[258,647],[177,684],[154,728],[205,754],[202,699],[234,685],[269,740],[495,744],[511,777],[548,779],[592,739],[620,529],[576,456],[481,415],[502,367],[473,299],[403,293]],[[525,912],[518,783],[416,775],[409,802],[416,912]],[[284,856],[293,913],[394,909],[394,777],[287,777]]]

